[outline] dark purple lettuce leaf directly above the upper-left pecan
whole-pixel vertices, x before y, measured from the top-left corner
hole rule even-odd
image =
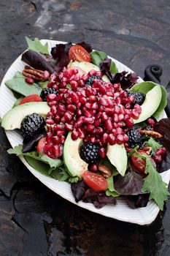
[[[21,60],[34,69],[47,70],[50,74],[54,71],[54,64],[47,54],[37,53],[34,50],[26,50]]]

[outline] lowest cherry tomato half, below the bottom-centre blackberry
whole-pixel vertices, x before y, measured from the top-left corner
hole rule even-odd
[[[86,170],[85,173],[83,173],[82,178],[93,190],[103,191],[108,187],[106,178],[97,173],[91,173],[90,171]]]

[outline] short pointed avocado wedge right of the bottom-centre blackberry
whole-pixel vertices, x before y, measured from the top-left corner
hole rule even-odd
[[[107,157],[112,165],[116,167],[117,172],[120,173],[121,176],[124,176],[128,164],[128,157],[124,144],[109,145],[108,143]]]

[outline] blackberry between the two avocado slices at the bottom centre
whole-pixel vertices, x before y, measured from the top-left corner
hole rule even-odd
[[[95,164],[98,161],[98,144],[86,142],[80,147],[80,157],[88,164]]]

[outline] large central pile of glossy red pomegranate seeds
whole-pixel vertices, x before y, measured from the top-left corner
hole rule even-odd
[[[62,155],[66,131],[72,132],[72,140],[82,138],[84,142],[98,143],[98,154],[106,157],[107,143],[114,145],[128,142],[125,131],[139,118],[141,107],[131,107],[134,97],[128,96],[119,83],[107,83],[94,79],[93,85],[85,85],[90,76],[102,76],[91,70],[88,75],[74,68],[52,75],[48,87],[58,89],[58,95],[48,94],[50,112],[46,124],[53,127],[47,132],[47,155],[58,158]],[[70,84],[72,90],[67,89]]]

